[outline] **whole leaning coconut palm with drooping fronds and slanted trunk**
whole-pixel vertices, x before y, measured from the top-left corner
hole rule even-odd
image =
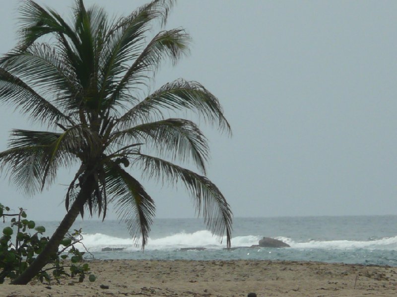
[[[190,110],[230,134],[218,99],[184,79],[144,95],[163,60],[175,64],[189,51],[183,29],[151,33],[155,23],[165,24],[173,2],[153,0],[112,20],[77,0],[69,23],[33,0],[23,2],[20,42],[0,60],[0,101],[51,131],[12,130],[0,166],[27,194],[50,185],[59,168],[79,167],[66,192],[65,218],[13,284],[26,284],[40,271],[79,214],[105,219],[109,202],[144,247],[154,202],[127,168],[185,185],[207,227],[220,237],[226,231],[230,246],[230,207],[205,177],[206,138],[194,122],[164,116]],[[182,167],[189,161],[199,173]]]

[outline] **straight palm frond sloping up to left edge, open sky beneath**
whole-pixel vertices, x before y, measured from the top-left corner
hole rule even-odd
[[[73,123],[70,117],[40,96],[24,81],[2,68],[0,68],[0,102],[20,108],[34,121],[48,125],[56,122]]]

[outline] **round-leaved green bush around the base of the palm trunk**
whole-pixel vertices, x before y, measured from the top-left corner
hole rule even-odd
[[[46,228],[29,221],[25,210],[20,208],[17,214],[10,214],[9,211],[0,203],[0,219],[3,223],[11,217],[10,226],[3,228],[0,237],[0,284],[5,278],[12,281],[25,271],[49,240],[43,235]],[[37,279],[41,283],[51,283],[52,280],[60,283],[62,277],[78,277],[78,281],[82,282],[90,271],[89,265],[83,263],[85,252],[75,247],[82,239],[81,229],[67,233],[61,242],[63,248],[51,255],[49,263],[36,275]],[[69,272],[66,272],[66,268],[69,268]],[[95,281],[93,274],[89,276],[89,281]]]

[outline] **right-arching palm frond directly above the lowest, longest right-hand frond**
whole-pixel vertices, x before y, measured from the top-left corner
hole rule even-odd
[[[173,160],[186,161],[192,158],[205,174],[205,163],[209,155],[208,143],[192,121],[166,119],[145,123],[115,132],[111,137],[115,141],[151,144],[151,148],[155,148],[161,155],[171,156]]]

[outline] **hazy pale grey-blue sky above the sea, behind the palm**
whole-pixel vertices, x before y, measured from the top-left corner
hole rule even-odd
[[[19,2],[0,0],[0,53],[16,43]],[[37,2],[65,16],[73,4]],[[94,2],[110,15],[145,3]],[[395,0],[177,2],[166,28],[191,34],[191,54],[161,67],[153,90],[183,77],[219,98],[233,136],[202,127],[207,175],[234,217],[397,215],[396,11]],[[12,128],[40,129],[5,105],[0,119],[1,150]],[[2,174],[0,202],[61,220],[73,169],[34,197]],[[142,183],[156,217],[195,217],[182,186]]]

